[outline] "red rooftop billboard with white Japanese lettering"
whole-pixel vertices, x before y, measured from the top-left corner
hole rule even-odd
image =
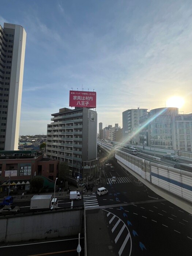
[[[96,92],[69,91],[69,107],[96,108]]]

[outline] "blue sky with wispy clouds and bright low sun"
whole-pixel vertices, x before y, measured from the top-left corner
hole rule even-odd
[[[173,96],[192,112],[191,0],[10,0],[4,22],[27,33],[20,135],[46,134],[71,88],[97,92],[103,127]]]

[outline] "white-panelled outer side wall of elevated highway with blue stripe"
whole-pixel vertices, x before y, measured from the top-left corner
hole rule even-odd
[[[159,196],[192,214],[191,172],[163,165],[153,161],[153,157],[147,161],[109,143],[98,141],[98,145],[113,155],[125,172],[131,173]]]

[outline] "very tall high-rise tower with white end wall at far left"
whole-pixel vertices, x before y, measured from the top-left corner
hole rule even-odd
[[[18,150],[26,31],[0,26],[0,150]]]

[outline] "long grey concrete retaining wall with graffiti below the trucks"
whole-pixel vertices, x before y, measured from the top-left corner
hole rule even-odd
[[[83,207],[1,217],[0,242],[78,236],[82,231],[82,221]]]

